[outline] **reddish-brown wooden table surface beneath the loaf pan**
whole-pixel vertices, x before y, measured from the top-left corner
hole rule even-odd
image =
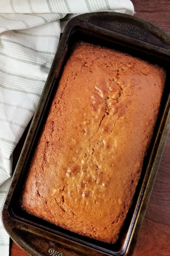
[[[170,34],[169,0],[132,0],[135,15],[152,22]],[[14,152],[15,167],[27,130]],[[165,146],[134,256],[170,255],[170,134]],[[28,256],[10,240],[10,256]],[[91,255],[92,256],[92,255]]]

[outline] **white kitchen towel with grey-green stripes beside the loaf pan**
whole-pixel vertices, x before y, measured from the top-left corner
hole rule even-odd
[[[0,209],[12,152],[35,112],[61,30],[77,14],[104,10],[134,13],[130,0],[0,0]],[[0,256],[7,255],[0,220]]]

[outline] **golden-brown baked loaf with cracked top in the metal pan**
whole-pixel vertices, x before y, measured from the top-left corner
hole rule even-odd
[[[22,208],[64,229],[116,242],[164,82],[165,72],[156,65],[113,49],[77,45],[32,158]]]

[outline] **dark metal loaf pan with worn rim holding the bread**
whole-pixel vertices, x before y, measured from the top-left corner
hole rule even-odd
[[[54,92],[57,90],[62,69],[70,49],[77,40],[128,52],[133,56],[164,67],[167,73],[152,142],[144,160],[132,207],[115,244],[99,242],[64,230],[27,214],[21,210],[19,205],[30,159],[45,123]],[[1,212],[6,231],[29,255],[104,256],[133,254],[170,126],[169,42],[170,37],[161,29],[142,19],[125,14],[111,12],[83,14],[73,18],[67,24]]]

